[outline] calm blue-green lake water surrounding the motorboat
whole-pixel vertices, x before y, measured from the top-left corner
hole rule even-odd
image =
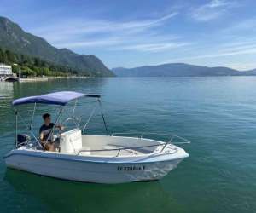
[[[61,181],[7,170],[14,143],[9,101],[58,90],[102,94],[112,132],[148,131],[192,141],[160,181],[119,185]],[[256,78],[90,78],[0,83],[0,212],[256,212]],[[85,105],[85,102],[88,103]],[[80,102],[88,118],[93,101]],[[24,118],[32,106],[21,107]],[[56,107],[38,109],[40,114]],[[23,127],[20,126],[22,129]],[[88,131],[104,134],[99,113]]]

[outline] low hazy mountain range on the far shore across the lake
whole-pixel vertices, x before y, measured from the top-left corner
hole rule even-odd
[[[171,63],[157,66],[140,66],[135,68],[113,68],[119,77],[196,77],[196,76],[243,76],[256,75],[256,70],[240,72],[228,67],[195,66],[183,63]]]

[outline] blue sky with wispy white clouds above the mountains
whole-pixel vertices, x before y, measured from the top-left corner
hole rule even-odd
[[[256,68],[255,0],[0,0],[0,16],[108,68]]]

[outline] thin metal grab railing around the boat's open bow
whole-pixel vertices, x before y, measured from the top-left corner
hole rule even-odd
[[[121,147],[121,148],[112,148],[112,149],[96,149],[96,150],[79,150],[79,152],[77,153],[79,155],[79,153],[86,153],[86,152],[108,152],[108,151],[117,151],[117,154],[115,157],[119,157],[119,153],[122,151],[122,150],[130,150],[130,149],[133,149],[133,150],[137,150],[137,149],[140,149],[140,148],[146,148],[146,147],[159,147],[159,146],[163,146],[160,150],[159,153],[162,153],[166,146],[170,143],[172,144],[189,144],[190,141],[181,137],[181,136],[178,136],[178,135],[171,135],[171,134],[161,134],[161,133],[152,133],[152,132],[143,132],[143,133],[140,133],[140,132],[129,132],[129,133],[113,133],[111,136],[115,136],[115,135],[134,135],[134,134],[140,134],[139,139],[150,139],[150,138],[147,138],[147,137],[143,137],[144,135],[167,135],[167,136],[170,136],[171,138],[168,140],[168,141],[163,141],[162,143],[160,144],[154,144],[154,145],[148,145],[148,146],[141,146],[141,147]],[[179,140],[183,141],[183,142],[173,142],[172,140],[174,138],[178,138]],[[172,147],[172,150],[174,150],[173,153],[177,153],[177,148],[176,147]],[[171,153],[171,154],[173,154]]]

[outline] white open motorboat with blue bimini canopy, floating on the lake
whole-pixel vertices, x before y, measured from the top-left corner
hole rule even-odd
[[[122,183],[131,181],[154,181],[174,169],[183,158],[189,157],[182,148],[174,145],[189,143],[177,135],[170,135],[168,141],[150,139],[153,133],[141,134],[131,137],[125,134],[87,135],[84,133],[90,118],[83,128],[79,127],[80,118],[67,118],[61,122],[63,107],[69,101],[74,101],[73,112],[78,98],[93,97],[99,102],[100,95],[86,95],[78,92],[63,91],[46,95],[20,98],[12,102],[16,116],[15,149],[4,156],[8,167],[25,170],[42,176],[51,176],[72,181],[85,181],[97,183]],[[54,135],[54,128],[50,137],[58,139],[58,151],[44,150],[37,136],[32,132],[32,120],[28,126],[28,135],[20,135],[18,124],[22,117],[17,107],[22,104],[34,104],[32,120],[38,103],[60,106],[60,112],[55,124],[64,124],[74,121],[72,130],[63,131]],[[103,123],[108,131],[102,113]],[[146,136],[148,135],[148,136]]]

